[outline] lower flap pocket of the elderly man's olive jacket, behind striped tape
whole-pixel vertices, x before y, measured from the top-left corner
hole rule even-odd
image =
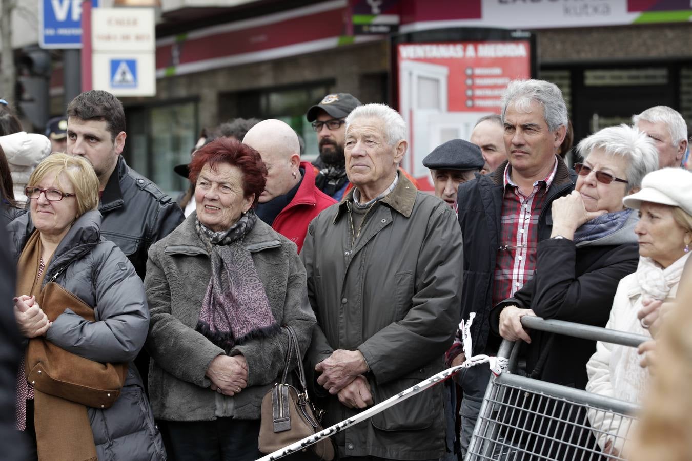
[[[428,377],[428,368],[401,377],[387,384],[372,385],[374,404],[384,402],[401,391],[418,384]],[[414,395],[403,402],[370,418],[370,424],[381,431],[418,431],[428,429],[439,418],[439,392],[435,389]]]

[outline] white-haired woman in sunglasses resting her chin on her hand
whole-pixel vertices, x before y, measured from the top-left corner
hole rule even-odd
[[[605,326],[619,280],[637,267],[637,215],[625,209],[623,198],[657,168],[658,156],[644,133],[624,124],[585,138],[577,151],[584,160],[574,165],[576,187],[552,204],[552,233],[538,243],[534,276],[493,308],[491,328],[505,339],[527,343],[527,375],[583,389],[594,341],[529,335],[520,319],[528,314]],[[556,451],[543,454],[562,459],[561,444],[552,446]]]

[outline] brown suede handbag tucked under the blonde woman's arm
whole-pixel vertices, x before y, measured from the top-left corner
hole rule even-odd
[[[48,320],[66,308],[94,321],[93,308],[55,282],[47,283],[37,299]],[[120,396],[127,364],[102,364],[68,352],[39,336],[29,340],[26,379],[42,393],[93,408],[109,408]]]

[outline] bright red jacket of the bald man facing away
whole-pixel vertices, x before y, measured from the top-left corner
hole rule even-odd
[[[281,210],[271,225],[276,232],[298,245],[298,253],[302,249],[310,221],[320,211],[336,203],[334,198],[315,187],[315,170],[312,164],[300,162],[300,167],[305,170],[300,187],[291,203]]]

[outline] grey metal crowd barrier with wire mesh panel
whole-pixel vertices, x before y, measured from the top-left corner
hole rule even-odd
[[[522,325],[531,330],[631,347],[650,339],[540,317],[522,317]],[[498,357],[508,359],[507,368],[491,377],[465,461],[623,460],[620,453],[601,451],[587,412],[600,412],[619,422],[618,430],[608,437],[614,440],[614,446],[621,446],[631,436],[629,429],[639,406],[514,374],[520,342],[502,341]]]

